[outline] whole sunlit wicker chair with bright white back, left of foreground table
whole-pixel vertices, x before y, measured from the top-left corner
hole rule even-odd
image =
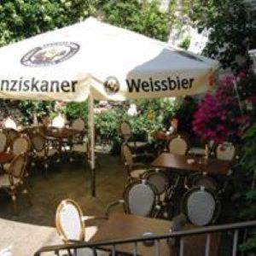
[[[85,222],[88,219],[107,218],[84,216],[81,207],[76,201],[66,199],[61,201],[55,213],[55,226],[61,240],[66,244],[71,244],[79,241],[86,241],[86,231],[90,231],[90,227],[85,228]],[[93,227],[93,230],[96,230]],[[91,233],[91,231],[90,231]],[[89,235],[89,234],[88,234]],[[90,234],[91,236],[92,234]],[[71,251],[68,255],[74,255]],[[77,249],[75,255],[95,255],[90,248]]]

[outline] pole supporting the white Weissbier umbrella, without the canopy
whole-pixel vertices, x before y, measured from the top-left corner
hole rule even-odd
[[[90,127],[90,189],[91,196],[96,196],[96,171],[95,171],[95,125],[94,125],[94,97],[89,97],[89,127]]]

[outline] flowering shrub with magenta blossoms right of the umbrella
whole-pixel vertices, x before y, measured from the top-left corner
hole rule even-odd
[[[245,79],[246,73],[227,76],[214,94],[207,94],[195,112],[193,131],[203,140],[215,143],[236,141],[249,125],[249,116],[241,109],[234,90],[234,81]]]

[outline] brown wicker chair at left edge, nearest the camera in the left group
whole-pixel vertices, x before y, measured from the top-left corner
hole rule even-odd
[[[31,204],[28,191],[26,189],[26,154],[19,154],[11,161],[9,169],[0,178],[0,189],[7,192],[13,201],[14,211],[17,213],[17,194],[21,190],[26,194]]]

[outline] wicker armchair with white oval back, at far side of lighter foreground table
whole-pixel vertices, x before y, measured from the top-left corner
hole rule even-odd
[[[108,216],[112,207],[123,205],[125,213],[143,216],[157,217],[160,212],[160,201],[154,185],[145,179],[129,183],[124,191],[123,199],[108,205],[106,215]]]

